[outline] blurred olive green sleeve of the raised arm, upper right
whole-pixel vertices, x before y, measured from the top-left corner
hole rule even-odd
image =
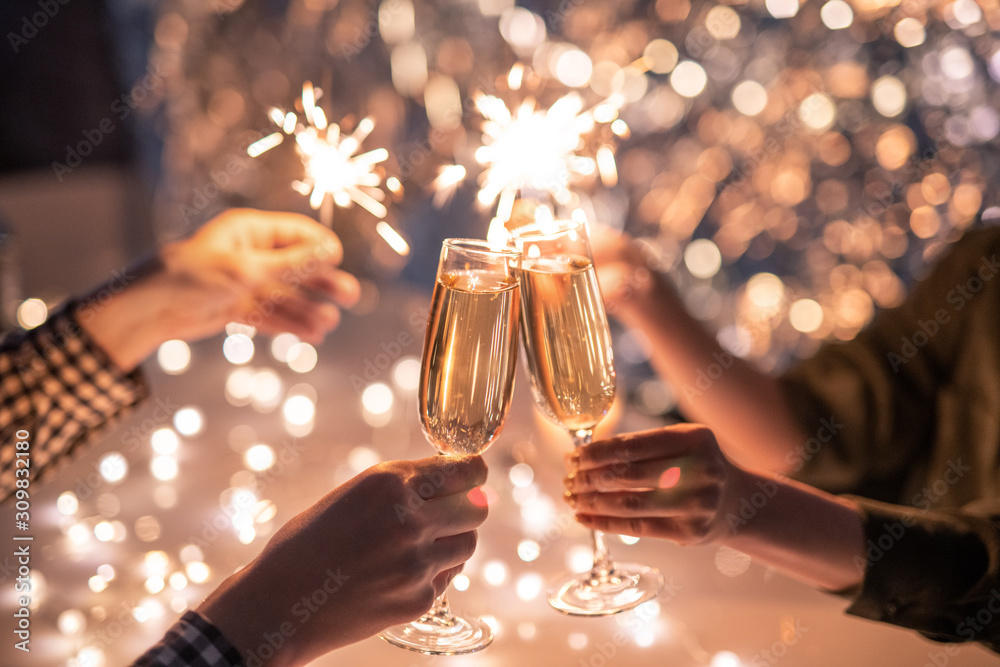
[[[797,479],[837,493],[899,499],[945,432],[939,406],[956,360],[975,358],[977,346],[984,359],[996,355],[998,256],[1000,229],[967,234],[901,306],[780,377],[807,436],[790,454]]]

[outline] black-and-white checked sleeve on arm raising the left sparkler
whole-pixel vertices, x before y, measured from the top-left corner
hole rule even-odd
[[[149,393],[141,371],[117,368],[74,311],[68,303],[41,326],[0,340],[0,502],[14,491],[19,430],[29,434],[29,475],[37,479]]]

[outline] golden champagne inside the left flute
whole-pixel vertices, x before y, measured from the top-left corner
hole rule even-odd
[[[443,454],[478,454],[503,427],[517,360],[516,277],[455,271],[434,286],[420,371],[420,421]]]

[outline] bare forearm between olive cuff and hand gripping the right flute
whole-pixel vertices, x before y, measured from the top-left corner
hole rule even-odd
[[[864,523],[858,506],[787,479],[746,473],[719,542],[830,591],[861,582]]]

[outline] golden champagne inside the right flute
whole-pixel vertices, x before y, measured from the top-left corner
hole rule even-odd
[[[615,367],[593,263],[574,255],[525,257],[521,290],[535,403],[571,431],[594,428],[614,401]]]

